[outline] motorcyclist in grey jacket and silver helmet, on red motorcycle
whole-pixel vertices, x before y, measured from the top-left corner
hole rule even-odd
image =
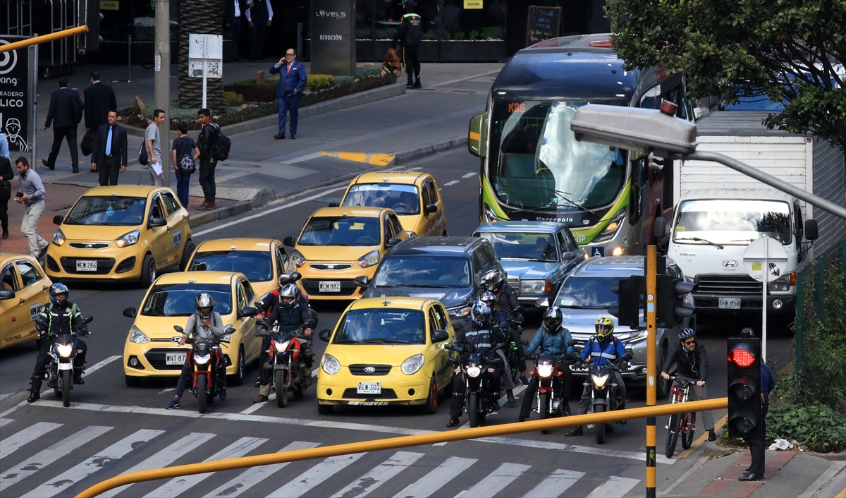
[[[226,399],[226,365],[223,364],[223,355],[220,347],[217,346],[217,340],[226,335],[223,329],[223,319],[220,313],[214,311],[214,299],[205,292],[197,294],[194,307],[197,312],[188,318],[188,324],[185,324],[179,346],[185,346],[185,342],[191,335],[194,336],[195,340],[214,340],[216,345],[213,348],[215,354],[212,361],[214,361],[217,382],[220,385],[220,400],[223,401]],[[182,407],[179,404],[179,398],[182,397],[185,388],[191,382],[191,354],[192,351],[189,351],[189,354],[185,355],[182,373],[179,374],[179,382],[176,384],[176,393],[173,395],[173,400],[168,403],[168,410]]]

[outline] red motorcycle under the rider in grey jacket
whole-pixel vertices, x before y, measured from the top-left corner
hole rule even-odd
[[[182,334],[184,329],[179,325],[173,325],[173,329]],[[214,401],[214,397],[220,394],[220,381],[217,378],[217,368],[224,368],[222,364],[223,355],[218,356],[219,348],[217,343],[222,342],[228,344],[229,339],[235,333],[235,329],[231,325],[223,328],[226,335],[223,335],[217,340],[195,340],[189,337],[185,340],[191,345],[191,351],[188,353],[186,361],[190,362],[191,367],[191,385],[188,390],[197,396],[197,411],[205,413],[208,410],[208,404]],[[217,349],[217,351],[215,351]]]

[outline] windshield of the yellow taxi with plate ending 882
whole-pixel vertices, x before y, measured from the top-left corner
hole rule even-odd
[[[378,246],[378,218],[312,218],[299,236],[300,246]]]

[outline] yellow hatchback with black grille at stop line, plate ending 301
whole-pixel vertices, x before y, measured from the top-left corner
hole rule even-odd
[[[339,405],[420,405],[437,411],[437,391],[452,390],[453,327],[441,302],[419,297],[361,299],[334,333],[321,330],[326,352],[317,373],[317,411]]]

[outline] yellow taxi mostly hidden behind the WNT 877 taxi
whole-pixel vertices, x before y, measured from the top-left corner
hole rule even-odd
[[[294,271],[288,250],[276,239],[215,239],[197,246],[186,271],[236,272],[246,275],[255,294],[277,288],[279,275]]]

